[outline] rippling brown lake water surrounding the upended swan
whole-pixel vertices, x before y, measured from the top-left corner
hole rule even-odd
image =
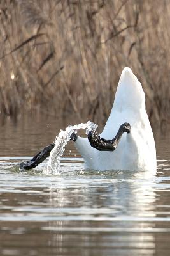
[[[155,132],[157,173],[85,171],[73,142],[60,175],[18,170],[66,126],[38,116],[1,123],[0,255],[169,256],[169,132]]]

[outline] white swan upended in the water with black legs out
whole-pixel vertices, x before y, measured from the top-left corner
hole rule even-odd
[[[118,82],[110,116],[100,136],[90,131],[88,138],[71,135],[85,161],[94,170],[156,170],[156,150],[145,108],[145,93],[132,70],[125,67]],[[39,152],[22,168],[36,167],[49,156],[54,144]]]

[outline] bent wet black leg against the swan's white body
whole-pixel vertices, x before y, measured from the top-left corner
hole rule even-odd
[[[99,151],[114,151],[122,137],[124,132],[129,133],[131,131],[131,125],[129,123],[124,123],[120,125],[117,135],[112,140],[106,140],[101,138],[96,131],[92,130],[88,134],[88,140],[93,148]]]

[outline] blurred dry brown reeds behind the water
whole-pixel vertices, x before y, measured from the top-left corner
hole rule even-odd
[[[125,66],[152,124],[170,107],[170,1],[1,0],[0,111],[103,124]]]

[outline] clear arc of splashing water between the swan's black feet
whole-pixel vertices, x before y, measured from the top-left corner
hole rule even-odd
[[[45,166],[44,173],[45,174],[59,174],[57,172],[57,168],[60,164],[60,157],[64,153],[65,147],[70,140],[71,134],[77,133],[78,129],[86,129],[86,134],[89,133],[92,129],[96,131],[97,125],[88,121],[87,123],[77,124],[77,125],[69,125],[65,131],[61,130],[60,133],[55,138],[55,147],[53,148],[52,152],[50,152],[50,157],[48,163]]]

